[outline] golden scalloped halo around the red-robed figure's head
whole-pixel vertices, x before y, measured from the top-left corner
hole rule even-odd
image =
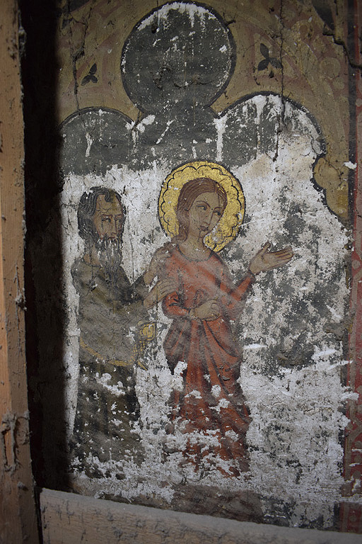
[[[166,234],[171,238],[178,234],[176,217],[177,200],[182,186],[192,179],[214,179],[228,196],[228,204],[216,227],[204,239],[204,243],[213,251],[220,251],[233,240],[243,224],[245,198],[243,189],[233,174],[216,162],[195,161],[178,166],[163,182],[158,199],[158,217]]]

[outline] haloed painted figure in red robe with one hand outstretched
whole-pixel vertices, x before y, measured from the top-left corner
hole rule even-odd
[[[193,171],[224,181],[221,185],[210,177],[189,179]],[[172,392],[170,404],[173,421],[180,421],[189,435],[184,455],[197,470],[207,460],[223,474],[239,475],[248,468],[249,413],[238,383],[240,351],[233,341],[230,319],[238,319],[255,276],[286,264],[292,251],[271,252],[270,244],[265,244],[250,261],[247,276],[233,285],[223,261],[204,242],[215,227],[219,232],[210,245],[218,249],[237,234],[243,193],[230,177],[217,164],[190,164],[173,172],[161,193],[165,229],[170,234],[173,224],[178,224],[175,245],[168,249],[170,257],[165,263],[165,273],[177,287],[163,301],[163,312],[173,319],[163,347],[171,373],[178,370],[183,382],[181,391]],[[237,192],[236,203],[229,186]],[[177,203],[172,206],[175,196]],[[172,433],[173,426],[168,429]],[[217,458],[222,465],[217,465]]]

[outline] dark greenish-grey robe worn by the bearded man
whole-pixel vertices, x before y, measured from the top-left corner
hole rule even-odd
[[[139,435],[133,429],[139,419],[134,385],[148,290],[142,278],[131,284],[121,267],[106,275],[100,266],[78,260],[71,273],[81,332],[72,458],[78,470],[100,477],[98,460],[140,460]]]

